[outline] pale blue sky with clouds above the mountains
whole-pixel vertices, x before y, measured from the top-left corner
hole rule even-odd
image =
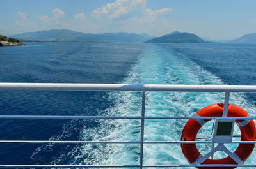
[[[0,34],[49,29],[83,33],[172,31],[210,40],[256,33],[255,0],[0,0]]]

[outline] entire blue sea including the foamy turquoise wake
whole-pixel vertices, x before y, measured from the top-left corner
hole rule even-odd
[[[223,43],[27,43],[0,47],[0,82],[256,85],[256,45]],[[191,116],[223,103],[218,92],[146,92],[146,116]],[[256,95],[230,103],[256,116]],[[0,115],[141,114],[141,92],[0,91]],[[146,141],[180,140],[186,120],[145,120]],[[211,133],[207,122],[201,134]],[[236,126],[235,134],[239,135]],[[205,138],[205,140],[209,138]],[[240,139],[238,138],[234,138]],[[0,119],[0,140],[139,141],[136,119]],[[234,151],[237,145],[227,146]],[[202,154],[211,145],[198,145]],[[0,144],[0,165],[137,165],[136,144]],[[226,154],[218,152],[214,158]],[[253,152],[246,164],[253,164]],[[179,144],[144,145],[147,165],[187,164]]]

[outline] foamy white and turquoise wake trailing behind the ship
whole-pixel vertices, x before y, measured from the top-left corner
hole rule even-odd
[[[141,84],[214,84],[223,85],[220,78],[205,71],[185,55],[174,50],[166,50],[157,45],[147,44],[138,61],[132,66],[129,75],[122,83]],[[147,92],[147,116],[191,116],[207,105],[222,103],[223,93],[207,92]],[[244,94],[231,94],[230,103],[239,105],[255,115],[255,107],[244,99]],[[109,92],[109,99],[115,103],[105,110],[106,115],[140,115],[140,92]],[[146,120],[145,140],[170,141],[180,140],[180,133],[186,121],[180,120]],[[211,125],[204,129],[211,131]],[[236,133],[239,129],[236,128]],[[104,120],[100,126],[84,129],[83,140],[140,140],[140,121],[137,120]],[[235,149],[236,145],[229,146]],[[199,146],[204,154],[210,147]],[[72,164],[125,164],[139,163],[139,145],[81,145],[70,152]],[[81,161],[81,157],[83,160]],[[216,154],[214,158],[222,158]],[[255,153],[246,163],[255,159]],[[186,164],[180,145],[144,145],[145,164]]]

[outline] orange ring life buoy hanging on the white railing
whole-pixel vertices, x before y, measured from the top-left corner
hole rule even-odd
[[[201,117],[221,117],[223,114],[223,103],[209,105],[196,112],[196,116]],[[228,117],[247,117],[248,113],[241,107],[236,105],[228,105]],[[184,126],[181,134],[181,140],[195,141],[196,135],[200,128],[210,120],[203,119],[189,119]],[[241,141],[255,141],[256,128],[253,120],[236,120],[236,124],[239,126],[241,131]],[[254,149],[254,144],[239,144],[234,153],[244,162],[249,158],[250,154]],[[196,144],[182,144],[182,152],[189,163],[194,163],[197,159],[202,156]],[[206,159],[202,164],[237,164],[230,156],[222,159]],[[207,167],[209,169],[209,167]],[[215,167],[216,168],[216,167]]]

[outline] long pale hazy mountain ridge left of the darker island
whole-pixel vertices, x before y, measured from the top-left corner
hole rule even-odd
[[[67,29],[52,29],[49,31],[36,31],[16,34],[13,38],[22,41],[146,41],[152,38],[146,33],[81,33]]]

